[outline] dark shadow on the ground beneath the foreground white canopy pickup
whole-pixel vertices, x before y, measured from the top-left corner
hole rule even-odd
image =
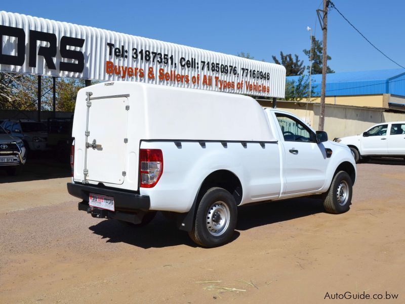
[[[282,202],[270,202],[254,206],[240,207],[236,230],[245,231],[262,225],[287,221],[294,218],[323,212],[321,200],[293,199]],[[89,227],[96,235],[107,239],[109,243],[127,243],[148,248],[163,248],[178,245],[197,247],[188,234],[175,227],[174,222],[157,213],[153,221],[144,227],[131,227],[117,220],[103,220]],[[235,231],[231,242],[240,233]]]

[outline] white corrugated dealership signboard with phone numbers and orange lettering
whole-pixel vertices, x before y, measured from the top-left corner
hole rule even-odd
[[[0,12],[0,70],[283,98],[283,66]]]

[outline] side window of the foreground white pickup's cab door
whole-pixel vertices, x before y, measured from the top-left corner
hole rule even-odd
[[[275,116],[277,117],[285,141],[314,141],[313,133],[303,123],[281,113],[276,113]]]

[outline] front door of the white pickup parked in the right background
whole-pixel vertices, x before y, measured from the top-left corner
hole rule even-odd
[[[377,125],[363,133],[361,138],[362,155],[387,155],[387,129],[388,124]]]

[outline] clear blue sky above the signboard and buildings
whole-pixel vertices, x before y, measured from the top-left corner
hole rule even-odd
[[[378,48],[405,66],[405,2],[335,0],[336,7]],[[315,10],[321,0],[291,1],[26,1],[1,10],[88,25],[192,47],[234,54],[249,52],[273,62],[279,52],[304,57],[307,26],[321,40]],[[328,15],[328,63],[335,71],[398,68],[373,49],[334,10]]]

